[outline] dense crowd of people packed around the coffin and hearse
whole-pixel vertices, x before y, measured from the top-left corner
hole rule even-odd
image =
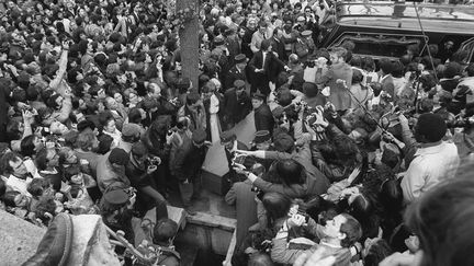
[[[170,247],[169,194],[195,215],[208,147],[222,146],[233,265],[472,263],[460,261],[473,245],[460,236],[473,184],[458,169],[474,151],[474,65],[459,44],[374,60],[351,42],[321,47],[337,2],[204,1],[193,84],[168,5],[7,1],[2,209],[40,227],[60,212],[101,215],[132,244],[138,217]],[[246,122],[251,143],[233,130]],[[161,264],[179,264],[167,254]]]

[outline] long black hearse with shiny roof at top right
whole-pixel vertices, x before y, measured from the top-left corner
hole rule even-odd
[[[465,49],[474,61],[474,7],[390,1],[342,1],[323,41],[324,47],[353,42],[354,55],[399,58],[409,45],[426,43]],[[425,34],[424,34],[425,33]]]

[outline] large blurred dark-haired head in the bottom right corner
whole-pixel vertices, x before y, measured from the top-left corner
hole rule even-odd
[[[408,207],[405,222],[419,239],[419,266],[474,264],[473,204],[474,180],[466,174],[441,183]]]

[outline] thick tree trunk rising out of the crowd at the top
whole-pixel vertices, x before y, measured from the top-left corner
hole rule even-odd
[[[193,88],[198,88],[199,78],[199,0],[177,0],[176,10],[194,9],[194,18],[184,23],[180,30],[180,49],[182,76],[191,80]]]

